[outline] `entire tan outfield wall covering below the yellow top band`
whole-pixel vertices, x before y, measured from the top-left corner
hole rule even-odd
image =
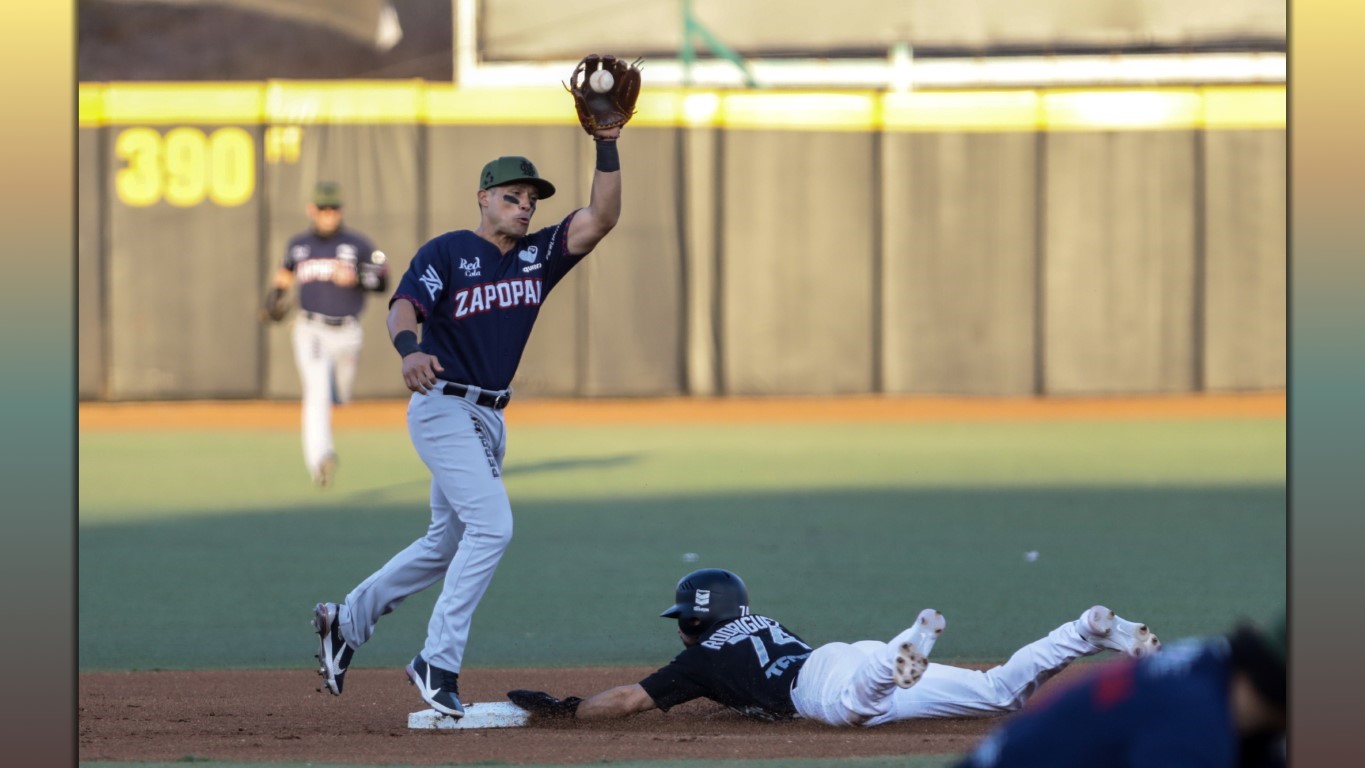
[[[317,179],[341,181],[396,285],[422,241],[476,225],[487,160],[526,154],[557,184],[536,226],[587,203],[592,168],[565,124],[261,123],[239,125],[248,198],[130,205],[130,128],[79,131],[82,398],[298,397],[288,326],[257,312]],[[621,224],[551,293],[519,396],[1286,383],[1283,130],[632,124],[621,154]],[[362,398],[405,392],[386,299],[363,318]]]

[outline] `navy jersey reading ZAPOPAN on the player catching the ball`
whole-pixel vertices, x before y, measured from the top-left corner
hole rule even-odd
[[[468,229],[418,250],[389,304],[407,299],[416,308],[422,351],[441,361],[441,378],[493,390],[512,383],[541,303],[583,261],[568,250],[572,220],[528,233],[505,254]]]

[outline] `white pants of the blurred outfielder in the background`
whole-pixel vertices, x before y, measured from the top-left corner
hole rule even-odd
[[[355,319],[329,326],[300,316],[293,323],[293,361],[303,382],[303,462],[314,475],[322,458],[336,453],[332,402],[347,402],[355,392],[362,337]]]

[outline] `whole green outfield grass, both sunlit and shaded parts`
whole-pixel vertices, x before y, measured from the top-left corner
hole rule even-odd
[[[318,491],[292,431],[82,434],[81,670],[310,664],[313,604],[427,522],[401,426],[339,450]],[[513,427],[516,533],[467,666],[662,663],[658,612],[702,566],[816,644],[936,607],[936,660],[1003,659],[1096,602],[1222,632],[1284,602],[1284,464],[1282,420]],[[405,663],[434,599],[355,666]]]

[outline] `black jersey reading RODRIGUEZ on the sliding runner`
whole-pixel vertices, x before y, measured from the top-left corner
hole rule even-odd
[[[665,712],[693,698],[710,698],[751,718],[784,720],[796,715],[792,683],[811,647],[774,619],[740,617],[640,681]]]

